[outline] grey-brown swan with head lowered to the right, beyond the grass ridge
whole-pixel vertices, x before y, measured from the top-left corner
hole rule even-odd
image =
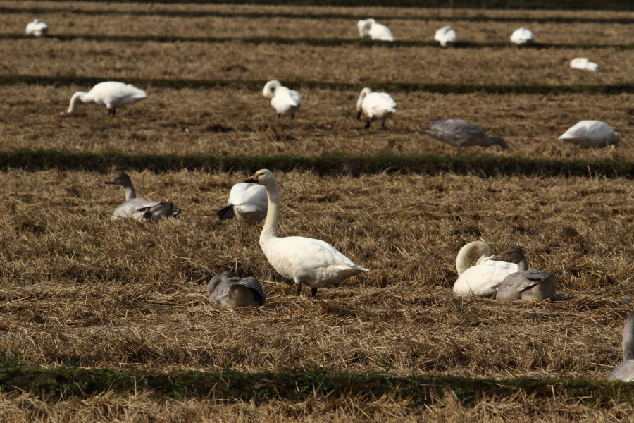
[[[470,147],[472,145],[479,145],[480,147],[489,147],[490,145],[499,145],[502,149],[509,148],[501,137],[487,137],[485,131],[478,125],[474,125],[464,119],[447,119],[433,121],[431,123],[431,129],[425,130],[432,137],[446,142],[450,145],[455,145],[461,149]]]

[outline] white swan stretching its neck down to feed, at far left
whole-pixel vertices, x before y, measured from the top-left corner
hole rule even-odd
[[[73,97],[70,97],[70,106],[66,113],[73,113],[77,102],[82,102],[106,106],[108,114],[115,116],[117,107],[135,104],[144,99],[147,99],[147,94],[134,85],[116,81],[99,82],[89,92],[75,92]]]

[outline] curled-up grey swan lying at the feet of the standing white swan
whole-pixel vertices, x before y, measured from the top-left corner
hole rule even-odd
[[[209,300],[225,307],[264,305],[266,293],[256,278],[238,278],[230,271],[213,276],[207,284]]]

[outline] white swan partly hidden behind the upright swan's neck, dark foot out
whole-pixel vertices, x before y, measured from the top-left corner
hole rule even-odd
[[[257,223],[266,217],[268,195],[262,185],[237,183],[229,192],[229,205],[216,212],[221,221],[235,217],[244,223]]]

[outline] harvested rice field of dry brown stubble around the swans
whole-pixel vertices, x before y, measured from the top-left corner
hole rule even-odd
[[[634,12],[0,11],[1,422],[632,418],[633,384],[607,377],[634,304]],[[371,16],[412,43],[356,42],[356,20]],[[33,18],[53,37],[17,36]],[[416,44],[443,25],[466,44]],[[522,25],[544,45],[505,45]],[[73,34],[86,37],[54,37]],[[162,36],[200,39],[151,38]],[[327,38],[343,42],[315,41]],[[599,71],[572,70],[576,56]],[[262,96],[271,79],[302,94],[294,119]],[[116,116],[94,104],[61,114],[84,80],[134,82],[149,99]],[[397,113],[364,130],[359,92],[382,84]],[[496,85],[510,89],[487,91]],[[509,149],[435,140],[425,130],[440,118],[473,121]],[[583,119],[609,123],[619,144],[557,139]],[[354,165],[385,157],[392,165]],[[325,240],[370,271],[294,295],[259,247],[262,224],[216,216],[253,163],[280,184],[280,236]],[[526,171],[533,163],[561,170]],[[111,220],[124,190],[104,180],[120,171],[180,218]],[[473,240],[522,247],[531,268],[557,276],[557,300],[454,295],[456,254]],[[226,270],[258,278],[266,304],[212,305],[206,283]]]

